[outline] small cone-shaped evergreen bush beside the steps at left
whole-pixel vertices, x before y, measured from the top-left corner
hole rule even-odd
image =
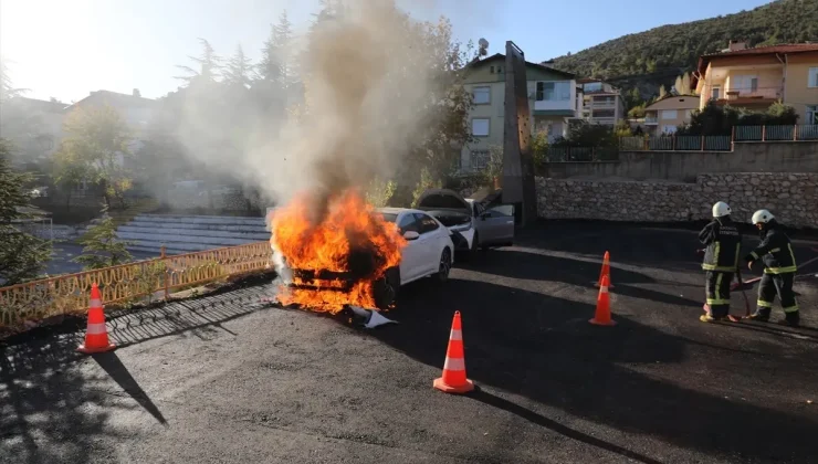
[[[116,238],[116,224],[107,214],[107,208],[103,209],[102,213],[102,221],[88,229],[80,239],[80,244],[83,245],[82,254],[72,260],[82,264],[86,271],[125,264],[134,259],[127,250],[128,242],[122,242]]]

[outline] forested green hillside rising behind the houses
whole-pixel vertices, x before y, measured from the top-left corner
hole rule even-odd
[[[725,49],[731,40],[749,46],[818,41],[818,0],[777,0],[735,14],[663,25],[557,57],[553,66],[646,93],[672,85],[677,75],[694,68],[700,55]]]

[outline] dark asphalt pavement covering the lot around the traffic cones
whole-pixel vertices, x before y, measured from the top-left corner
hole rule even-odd
[[[818,261],[796,284],[805,327],[703,324],[696,247],[550,222],[403,287],[400,324],[375,330],[266,307],[271,283],[111,315],[105,355],[41,329],[2,347],[0,462],[815,462]],[[588,324],[605,251],[616,327]],[[464,397],[431,387],[454,310]]]

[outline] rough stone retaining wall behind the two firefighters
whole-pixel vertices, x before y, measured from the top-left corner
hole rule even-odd
[[[766,208],[786,225],[818,228],[818,173],[701,175],[695,183],[537,178],[537,212],[546,219],[702,220],[720,200],[740,221]]]

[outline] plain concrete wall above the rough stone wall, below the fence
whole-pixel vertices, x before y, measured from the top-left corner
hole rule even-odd
[[[548,177],[692,182],[700,173],[815,172],[818,143],[736,143],[734,151],[621,151],[619,161],[552,162]]]

